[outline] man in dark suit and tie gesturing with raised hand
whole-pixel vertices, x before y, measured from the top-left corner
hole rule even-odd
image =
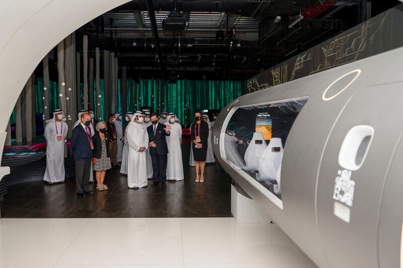
[[[171,135],[171,127],[158,123],[158,116],[152,113],[150,116],[151,126],[147,128],[149,145],[150,145],[150,155],[153,162],[153,184],[152,186],[158,185],[160,182],[162,186],[166,186],[167,181],[167,154],[168,145],[165,140],[166,136]]]

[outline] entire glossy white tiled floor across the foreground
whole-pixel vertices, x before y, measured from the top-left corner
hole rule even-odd
[[[0,244],[0,267],[316,267],[277,225],[233,218],[0,219]]]

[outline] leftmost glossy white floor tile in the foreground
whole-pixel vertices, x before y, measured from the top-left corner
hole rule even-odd
[[[0,264],[53,265],[88,221],[0,219]]]

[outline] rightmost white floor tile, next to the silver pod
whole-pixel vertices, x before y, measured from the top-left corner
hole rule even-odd
[[[273,224],[237,224],[233,218],[183,218],[181,226],[185,266],[237,263],[290,267],[291,264],[310,264]]]

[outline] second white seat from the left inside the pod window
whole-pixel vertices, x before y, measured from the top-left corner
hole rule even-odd
[[[281,138],[272,138],[261,155],[256,176],[257,181],[276,182],[277,171],[283,159],[283,144]]]

